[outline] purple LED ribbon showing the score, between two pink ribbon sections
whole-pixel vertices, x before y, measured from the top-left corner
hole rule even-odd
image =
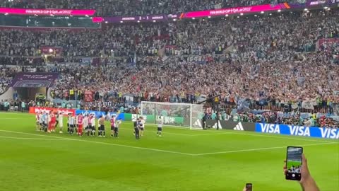
[[[169,19],[179,18],[180,15],[150,15],[150,16],[110,16],[110,17],[94,17],[93,23],[121,23],[121,22],[154,22],[154,21],[168,21]]]

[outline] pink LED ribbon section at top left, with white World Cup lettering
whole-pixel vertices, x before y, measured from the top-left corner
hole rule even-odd
[[[30,15],[30,16],[93,16],[92,9],[33,9],[33,8],[0,8],[1,14]]]

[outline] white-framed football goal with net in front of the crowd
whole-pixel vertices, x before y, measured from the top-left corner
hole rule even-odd
[[[141,102],[141,115],[149,124],[161,117],[164,125],[202,129],[203,105],[188,103]]]

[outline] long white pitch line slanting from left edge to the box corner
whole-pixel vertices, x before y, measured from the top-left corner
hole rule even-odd
[[[32,133],[25,133],[25,132],[12,132],[12,131],[6,131],[6,130],[0,130],[0,132],[11,132],[11,133],[16,133],[16,134],[30,134],[30,135],[42,136],[42,137],[53,137],[53,136],[44,135],[44,134],[32,134]],[[95,144],[106,144],[106,145],[113,145],[113,146],[122,146],[122,147],[126,147],[126,148],[131,148],[131,149],[142,149],[142,150],[148,150],[148,151],[159,151],[159,152],[169,153],[169,154],[182,154],[182,155],[187,155],[187,156],[195,156],[195,154],[187,154],[187,153],[182,153],[182,152],[177,152],[177,151],[167,151],[167,150],[162,150],[162,149],[151,149],[151,148],[145,148],[145,147],[140,147],[140,146],[129,146],[129,145],[125,145],[125,144],[113,144],[113,143],[107,143],[107,142],[101,142],[101,141],[89,141],[89,140],[83,140],[83,139],[71,139],[71,138],[64,138],[64,137],[57,137],[57,138],[60,138],[61,140],[84,141],[84,142],[95,143]]]

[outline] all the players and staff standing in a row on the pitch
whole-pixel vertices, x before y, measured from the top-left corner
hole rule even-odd
[[[111,125],[111,137],[118,138],[119,127],[121,125],[121,120],[117,120],[116,115],[109,116],[109,122]],[[55,132],[57,125],[59,125],[59,133],[62,132],[64,126],[63,122],[63,113],[62,112],[37,112],[35,115],[36,119],[36,128],[37,131],[43,132]],[[162,134],[163,120],[162,117],[157,119],[157,136],[161,137]],[[145,131],[145,120],[143,117],[138,117],[138,119],[133,120],[133,127],[136,139],[140,139],[140,136],[143,136]],[[85,131],[83,129],[85,128]],[[96,129],[98,137],[105,137],[105,115],[102,115],[99,120],[97,120],[97,128],[95,125],[95,114],[78,114],[76,116],[69,113],[67,117],[67,132],[69,134],[78,134],[82,137],[83,133],[87,136],[96,136]]]

